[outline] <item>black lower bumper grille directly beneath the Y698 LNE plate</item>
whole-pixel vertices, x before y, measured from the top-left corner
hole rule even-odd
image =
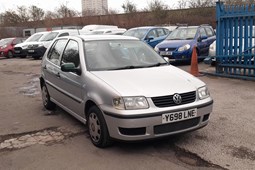
[[[154,126],[154,134],[164,134],[164,133],[170,133],[170,132],[188,129],[188,128],[197,126],[199,123],[199,120],[200,120],[200,117],[196,117],[193,119],[183,120],[180,122],[157,125],[157,126]]]

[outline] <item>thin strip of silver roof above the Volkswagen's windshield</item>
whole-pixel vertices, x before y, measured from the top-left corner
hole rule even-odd
[[[70,36],[72,37],[72,36]],[[94,41],[94,40],[139,40],[135,37],[124,36],[124,35],[76,35],[73,37],[80,37],[84,41]]]

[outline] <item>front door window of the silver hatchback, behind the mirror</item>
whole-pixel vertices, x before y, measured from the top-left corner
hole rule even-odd
[[[79,45],[76,41],[68,42],[61,61],[61,64],[63,63],[74,63],[75,67],[80,66]]]

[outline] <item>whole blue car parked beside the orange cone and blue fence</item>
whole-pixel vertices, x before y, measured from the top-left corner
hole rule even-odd
[[[170,62],[190,62],[194,46],[199,58],[206,57],[215,39],[215,32],[209,25],[178,27],[154,49]]]

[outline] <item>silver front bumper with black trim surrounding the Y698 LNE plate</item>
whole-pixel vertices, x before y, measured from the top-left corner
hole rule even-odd
[[[202,128],[208,124],[213,100],[183,108],[149,114],[119,115],[104,112],[109,134],[112,138],[125,141],[153,139]],[[173,123],[162,123],[162,114],[197,108],[197,116]],[[131,111],[132,112],[132,111]]]

